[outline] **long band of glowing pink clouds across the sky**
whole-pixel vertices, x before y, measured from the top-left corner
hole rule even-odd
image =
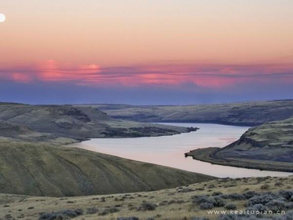
[[[0,77],[19,83],[68,82],[74,85],[139,87],[144,85],[224,89],[239,84],[292,84],[293,65],[218,65],[207,63],[169,63],[102,68],[97,64],[60,64],[54,60],[31,67],[0,69]],[[0,79],[1,80],[1,79]]]

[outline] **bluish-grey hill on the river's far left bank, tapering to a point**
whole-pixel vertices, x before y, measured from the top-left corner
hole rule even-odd
[[[94,137],[139,137],[190,132],[188,128],[114,120],[91,107],[33,106],[0,103],[0,128],[8,124],[33,132],[84,140]],[[2,133],[1,133],[2,132]],[[5,132],[5,135],[4,135]],[[11,136],[11,134],[9,134]],[[7,130],[0,130],[7,136]]]

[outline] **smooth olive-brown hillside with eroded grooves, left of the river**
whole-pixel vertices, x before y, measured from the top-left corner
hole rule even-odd
[[[214,177],[40,143],[0,141],[0,193],[84,196],[151,191]]]

